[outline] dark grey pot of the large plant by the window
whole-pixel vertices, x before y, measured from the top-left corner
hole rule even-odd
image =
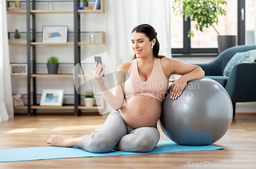
[[[218,36],[218,51],[219,53],[224,50],[237,46],[237,36],[236,35],[227,35],[227,36]]]

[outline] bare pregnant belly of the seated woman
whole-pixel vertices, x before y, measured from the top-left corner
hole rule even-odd
[[[134,129],[154,126],[161,116],[162,102],[154,97],[135,95],[125,98],[125,103],[119,111],[124,122]]]

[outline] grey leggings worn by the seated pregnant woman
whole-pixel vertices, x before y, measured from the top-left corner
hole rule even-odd
[[[157,124],[153,127],[133,129],[123,121],[120,112],[114,110],[96,134],[82,138],[82,146],[88,152],[108,153],[121,138],[122,151],[149,152],[157,145],[160,133]]]

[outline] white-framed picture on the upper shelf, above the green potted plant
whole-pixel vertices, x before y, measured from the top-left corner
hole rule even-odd
[[[68,39],[68,26],[43,26],[43,43],[66,43]]]

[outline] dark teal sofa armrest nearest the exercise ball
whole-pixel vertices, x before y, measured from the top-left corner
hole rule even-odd
[[[232,102],[256,101],[256,62],[235,65],[225,89]]]

